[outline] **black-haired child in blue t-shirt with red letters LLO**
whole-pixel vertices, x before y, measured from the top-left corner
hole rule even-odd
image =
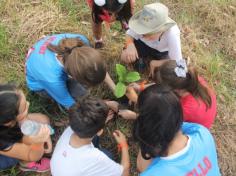
[[[133,135],[139,142],[141,176],[219,176],[212,135],[204,126],[183,123],[181,104],[170,88],[152,85],[138,99]]]

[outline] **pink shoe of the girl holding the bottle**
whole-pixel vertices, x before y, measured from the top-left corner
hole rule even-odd
[[[50,159],[42,158],[41,160],[35,162],[27,163],[25,166],[20,166],[22,171],[32,171],[32,172],[47,172],[50,170]]]

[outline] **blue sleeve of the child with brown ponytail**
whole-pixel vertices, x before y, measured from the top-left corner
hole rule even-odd
[[[68,92],[66,82],[58,81],[58,82],[45,82],[41,81],[41,84],[44,87],[44,90],[54,99],[57,103],[62,106],[69,108],[74,103],[75,100],[71,97]]]

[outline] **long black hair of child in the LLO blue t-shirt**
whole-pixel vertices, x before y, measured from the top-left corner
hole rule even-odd
[[[138,97],[133,136],[144,159],[164,156],[180,130],[183,112],[178,97],[165,85],[152,85]]]

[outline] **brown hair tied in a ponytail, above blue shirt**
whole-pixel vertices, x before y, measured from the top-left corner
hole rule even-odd
[[[87,86],[100,84],[106,76],[106,66],[100,53],[78,38],[62,39],[48,49],[62,56],[65,71],[73,79]]]

